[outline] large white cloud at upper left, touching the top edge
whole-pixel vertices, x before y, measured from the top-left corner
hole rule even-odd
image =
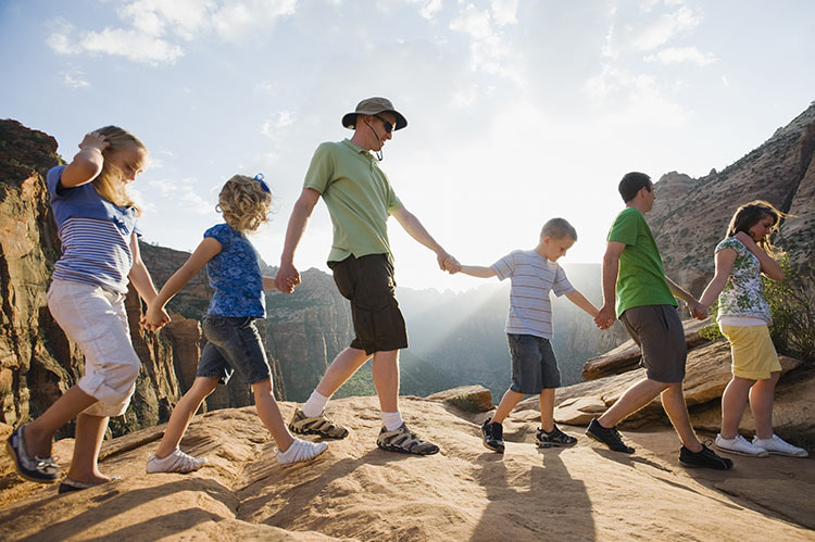
[[[148,65],[173,64],[184,56],[183,42],[209,35],[239,41],[267,33],[278,17],[294,12],[294,4],[296,0],[135,0],[116,10],[120,27],[79,30],[58,18],[46,42],[61,55],[92,52]]]

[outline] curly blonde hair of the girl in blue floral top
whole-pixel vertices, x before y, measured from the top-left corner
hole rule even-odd
[[[235,175],[226,181],[218,193],[216,211],[237,231],[255,231],[261,224],[268,222],[272,209],[272,192],[264,189],[261,180]]]

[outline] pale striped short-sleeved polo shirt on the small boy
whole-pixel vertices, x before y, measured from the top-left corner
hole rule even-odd
[[[563,267],[534,250],[513,251],[491,267],[500,280],[509,277],[512,282],[505,331],[551,339],[552,303],[549,291],[560,298],[575,289]]]

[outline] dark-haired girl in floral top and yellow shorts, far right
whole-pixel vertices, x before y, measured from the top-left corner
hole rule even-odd
[[[736,211],[727,237],[716,245],[716,273],[700,299],[706,314],[718,297],[716,319],[730,341],[732,355],[732,379],[722,395],[722,432],[716,436],[715,445],[724,452],[753,457],[808,455],[773,430],[773,395],[781,364],[769,337],[773,318],[764,298],[762,274],[770,280],[783,279],[769,243],[781,216],[766,201],[752,201]],[[748,402],[755,419],[752,442],[739,434]]]

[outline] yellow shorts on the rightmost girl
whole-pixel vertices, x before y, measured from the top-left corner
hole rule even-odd
[[[749,380],[766,380],[781,370],[778,354],[767,326],[728,326],[719,324],[722,335],[730,341],[732,374]]]

